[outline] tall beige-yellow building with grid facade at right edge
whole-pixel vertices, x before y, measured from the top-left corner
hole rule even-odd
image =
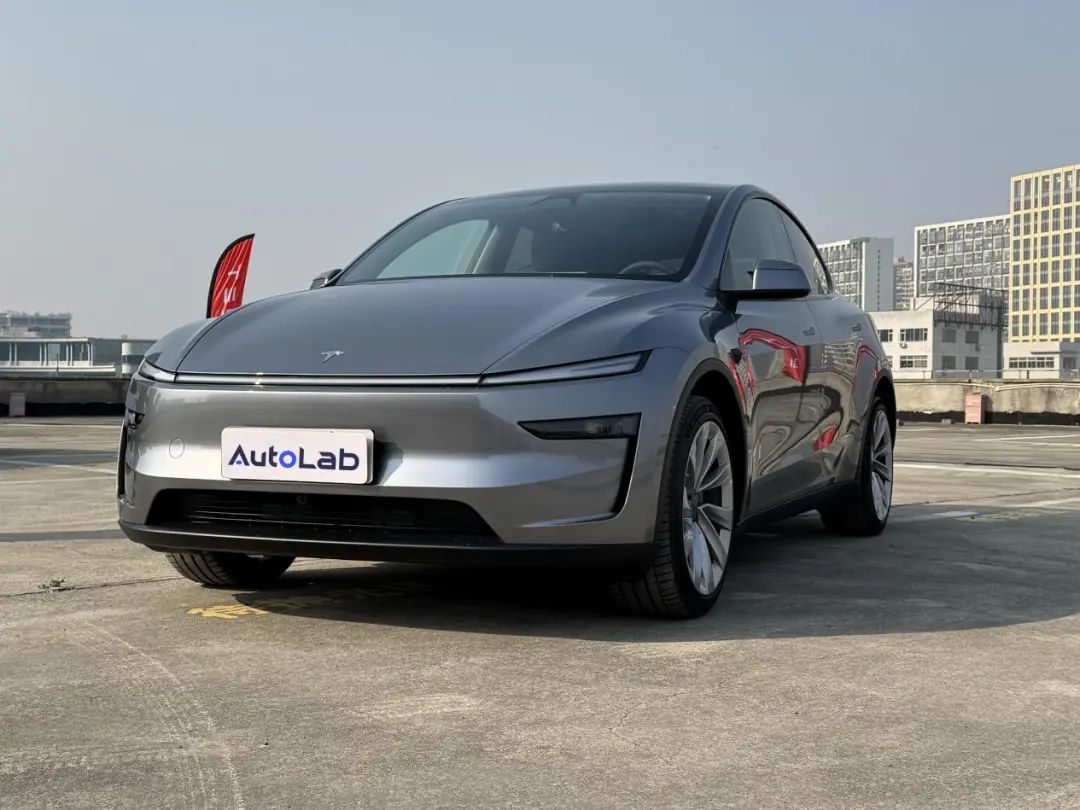
[[[1012,178],[1009,340],[1080,339],[1080,164]]]

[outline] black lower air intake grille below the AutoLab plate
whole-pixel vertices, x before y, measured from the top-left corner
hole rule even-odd
[[[422,498],[166,489],[147,523],[292,540],[499,542],[471,507]]]

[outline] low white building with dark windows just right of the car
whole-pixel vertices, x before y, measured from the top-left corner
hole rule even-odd
[[[994,378],[1001,375],[1000,325],[980,323],[934,298],[913,309],[870,312],[896,379]]]

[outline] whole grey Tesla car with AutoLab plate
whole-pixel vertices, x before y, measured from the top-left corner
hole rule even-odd
[[[881,531],[895,418],[870,319],[761,189],[455,200],[156,343],[120,525],[208,585],[301,555],[600,565],[693,617],[748,527]]]

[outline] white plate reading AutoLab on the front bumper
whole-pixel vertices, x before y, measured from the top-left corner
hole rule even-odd
[[[369,484],[375,434],[369,430],[226,428],[221,475],[247,481]]]

